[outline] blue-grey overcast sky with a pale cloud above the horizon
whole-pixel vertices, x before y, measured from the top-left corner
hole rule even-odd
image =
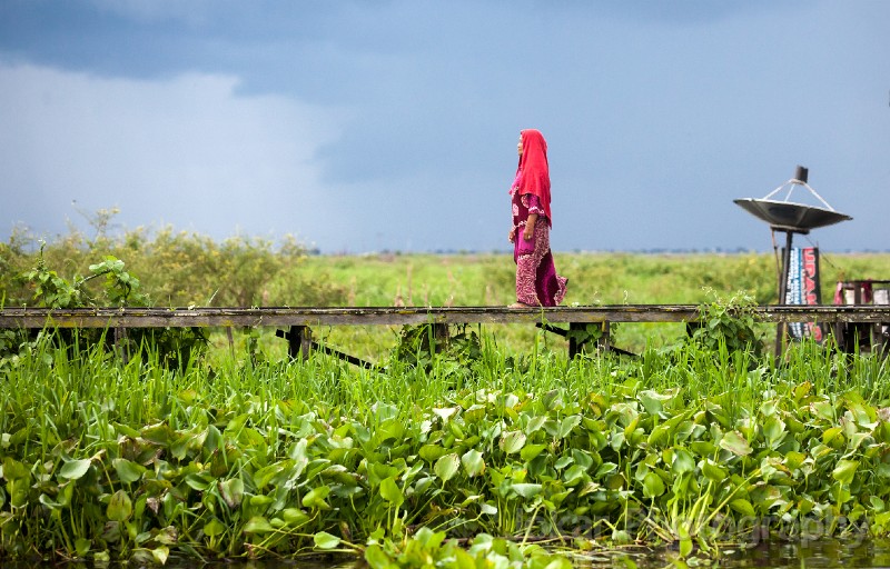
[[[0,0],[0,237],[172,226],[326,252],[506,249],[516,139],[555,250],[768,250],[809,168],[890,248],[883,0]],[[805,189],[792,201],[814,203]]]

